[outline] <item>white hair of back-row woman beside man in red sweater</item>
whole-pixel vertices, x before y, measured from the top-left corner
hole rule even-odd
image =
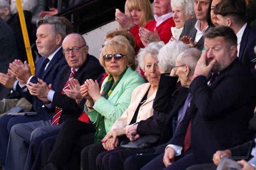
[[[171,0],[172,8],[179,7],[183,8],[186,11],[186,16],[191,18],[195,15],[194,11],[194,0]]]

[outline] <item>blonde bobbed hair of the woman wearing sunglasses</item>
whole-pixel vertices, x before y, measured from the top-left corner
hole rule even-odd
[[[131,67],[132,70],[136,69],[135,65],[135,55],[134,55],[134,49],[132,48],[132,45],[128,41],[128,39],[122,35],[117,35],[116,37],[112,38],[107,45],[102,49],[102,52],[100,53],[100,64],[104,67],[106,70],[106,64],[103,59],[103,56],[106,55],[106,51],[110,50],[113,51],[113,53],[120,53],[123,51],[124,57],[123,60],[126,61],[126,64]],[[106,70],[108,73],[108,70]]]

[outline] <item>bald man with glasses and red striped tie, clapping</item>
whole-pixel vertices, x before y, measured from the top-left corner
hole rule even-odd
[[[39,80],[37,84],[30,82],[27,85],[30,94],[37,96],[48,105],[51,104],[53,111],[56,108],[53,113],[54,116],[52,119],[24,124],[20,123],[12,127],[5,168],[14,169],[16,166],[24,167],[30,141],[39,135],[60,129],[61,123],[66,119],[78,119],[83,109],[78,107],[75,99],[80,101],[82,100],[82,96],[79,89],[74,89],[76,88],[75,86],[79,88],[80,84],[83,84],[85,80],[95,80],[98,75],[104,72],[98,59],[88,54],[89,47],[86,45],[86,41],[82,35],[68,35],[63,40],[62,47],[68,65],[60,72],[56,91],[50,89],[42,80]],[[74,80],[72,80],[71,76]],[[69,89],[68,86],[73,87]],[[12,154],[14,152],[15,154]]]

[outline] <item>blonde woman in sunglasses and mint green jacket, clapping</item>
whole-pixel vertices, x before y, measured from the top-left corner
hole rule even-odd
[[[80,170],[82,149],[104,138],[129,106],[134,88],[144,83],[142,76],[134,71],[134,50],[123,36],[114,37],[103,48],[100,64],[109,74],[101,89],[98,82],[91,79],[80,88],[87,99],[84,111],[92,123],[76,119],[65,121],[43,170]]]

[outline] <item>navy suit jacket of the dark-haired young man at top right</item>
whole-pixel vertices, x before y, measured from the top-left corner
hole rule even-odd
[[[238,58],[246,65],[247,68],[250,68],[254,77],[256,77],[256,70],[254,68],[255,64],[251,61],[256,58],[256,54],[254,53],[255,45],[256,29],[247,24],[242,35]]]

